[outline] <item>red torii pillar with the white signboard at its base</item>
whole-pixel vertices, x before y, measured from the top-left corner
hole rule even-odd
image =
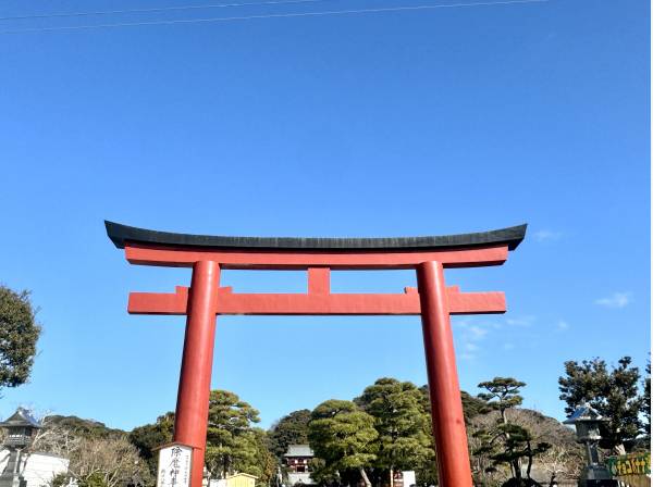
[[[174,440],[194,448],[190,487],[202,479],[219,285],[217,262],[195,263],[174,421]]]

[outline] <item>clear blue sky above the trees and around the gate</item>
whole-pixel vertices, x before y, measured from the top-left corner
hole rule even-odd
[[[445,4],[328,0],[34,26]],[[448,2],[452,3],[452,2]],[[165,5],[188,4],[170,0]],[[0,16],[152,8],[21,2]],[[0,282],[32,289],[42,337],[27,404],[130,429],[174,409],[183,317],[130,316],[130,290],[188,270],[131,266],[103,220],[215,235],[411,236],[529,223],[500,267],[501,316],[455,317],[461,387],[528,384],[564,417],[566,360],[650,352],[650,5],[551,0],[369,14],[0,34]],[[224,272],[235,291],[300,273]],[[399,291],[411,272],[336,273]],[[426,382],[417,317],[219,317],[212,386],[261,425],[378,377]]]

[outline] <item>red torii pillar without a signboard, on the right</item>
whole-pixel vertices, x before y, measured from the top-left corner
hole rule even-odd
[[[471,487],[467,433],[442,264],[419,264],[417,283],[440,485]]]

